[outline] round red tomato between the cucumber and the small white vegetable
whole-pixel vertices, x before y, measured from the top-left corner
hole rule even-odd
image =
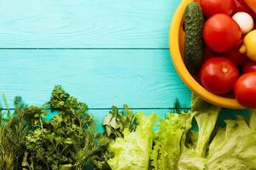
[[[203,34],[207,46],[218,53],[229,51],[241,40],[240,26],[226,14],[215,14],[208,19]]]

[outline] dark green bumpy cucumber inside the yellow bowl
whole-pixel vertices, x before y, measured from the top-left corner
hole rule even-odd
[[[184,13],[184,63],[188,71],[195,75],[204,61],[204,15],[198,3],[189,3]]]

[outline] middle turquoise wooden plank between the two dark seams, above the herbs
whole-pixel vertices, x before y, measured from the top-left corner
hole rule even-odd
[[[56,84],[90,108],[189,106],[168,50],[1,50],[0,91],[42,105]],[[2,102],[3,104],[3,102]]]

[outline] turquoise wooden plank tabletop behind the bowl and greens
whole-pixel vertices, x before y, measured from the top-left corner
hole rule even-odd
[[[61,84],[98,119],[112,105],[160,115],[176,98],[189,107],[168,47],[179,2],[1,0],[0,90],[10,104],[20,95],[41,105]]]

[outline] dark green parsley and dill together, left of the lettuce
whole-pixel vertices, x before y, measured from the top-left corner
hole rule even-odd
[[[5,101],[5,97],[3,98]],[[56,86],[49,102],[28,106],[15,98],[15,111],[0,110],[0,169],[84,169],[107,150],[87,105]],[[47,118],[47,113],[57,114]]]

